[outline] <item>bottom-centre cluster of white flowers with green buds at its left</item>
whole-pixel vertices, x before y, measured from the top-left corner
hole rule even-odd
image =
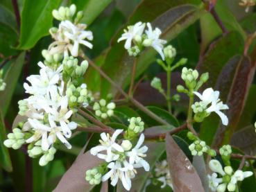
[[[86,172],[85,179],[90,184],[98,184],[100,180],[105,182],[110,179],[112,186],[116,186],[120,179],[123,187],[129,191],[132,186],[131,179],[137,173],[135,168],[143,167],[145,171],[149,171],[149,164],[143,159],[148,150],[146,146],[142,146],[144,134],[140,135],[137,144],[133,147],[129,140],[116,141],[122,132],[123,130],[116,130],[112,136],[105,132],[101,133],[99,141],[101,145],[91,148],[91,154],[104,159],[106,163]]]

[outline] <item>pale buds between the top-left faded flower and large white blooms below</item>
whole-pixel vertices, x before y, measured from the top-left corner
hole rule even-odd
[[[63,60],[63,53],[51,54],[46,49],[42,51],[42,56],[44,57],[44,64],[53,69],[57,69]]]

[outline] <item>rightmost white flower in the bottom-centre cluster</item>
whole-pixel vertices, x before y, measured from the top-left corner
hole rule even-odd
[[[147,146],[142,146],[144,142],[144,134],[141,134],[137,145],[129,152],[127,156],[129,157],[129,163],[133,164],[135,168],[143,167],[145,171],[149,171],[150,166],[142,157],[146,157],[145,152],[148,150]],[[142,147],[141,147],[142,146]]]

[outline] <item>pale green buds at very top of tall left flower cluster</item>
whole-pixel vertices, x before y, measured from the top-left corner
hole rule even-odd
[[[72,4],[69,7],[60,7],[58,10],[53,10],[53,17],[59,21],[72,20],[76,13],[76,5]],[[78,22],[83,17],[83,11],[79,11],[76,15]]]

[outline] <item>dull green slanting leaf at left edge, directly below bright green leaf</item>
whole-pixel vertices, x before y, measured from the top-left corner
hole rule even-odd
[[[20,53],[17,59],[10,63],[10,67],[3,78],[3,81],[6,82],[6,89],[4,91],[0,91],[0,110],[3,114],[3,117],[6,116],[10,101],[12,100],[12,94],[15,91],[17,81],[19,79],[20,73],[22,72],[24,58],[25,52]]]

